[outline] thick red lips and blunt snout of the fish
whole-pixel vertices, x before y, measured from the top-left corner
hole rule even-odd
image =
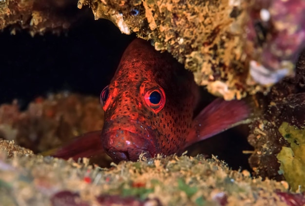
[[[114,161],[137,161],[143,153],[152,158],[156,154],[153,130],[137,121],[105,122],[102,132],[102,144],[106,153]]]

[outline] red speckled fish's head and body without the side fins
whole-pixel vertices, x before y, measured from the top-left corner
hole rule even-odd
[[[175,77],[178,73],[182,81]],[[190,85],[195,85],[191,72],[168,54],[146,41],[133,41],[100,97],[106,153],[114,161],[136,161],[141,153],[150,158],[177,152],[191,127]]]

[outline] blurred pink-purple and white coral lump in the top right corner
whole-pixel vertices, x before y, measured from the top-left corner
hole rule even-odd
[[[252,57],[249,74],[261,84],[273,84],[294,74],[294,62],[304,48],[303,0],[249,1],[245,52]]]

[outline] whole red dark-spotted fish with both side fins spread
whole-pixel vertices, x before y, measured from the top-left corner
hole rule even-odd
[[[57,150],[55,157],[90,157],[106,152],[114,161],[137,161],[141,153],[180,154],[247,119],[244,101],[214,100],[197,117],[193,74],[168,53],[135,39],[124,52],[114,78],[101,92],[102,131],[89,132]]]

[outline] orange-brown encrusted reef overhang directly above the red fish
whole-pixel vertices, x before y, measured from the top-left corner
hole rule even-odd
[[[95,19],[107,16],[124,33],[132,30],[141,38],[152,39],[156,50],[170,52],[213,94],[226,99],[246,95],[242,81],[247,72],[242,72],[245,67],[240,62],[245,58],[240,5],[225,0],[80,0],[78,4],[80,8],[89,4]]]

